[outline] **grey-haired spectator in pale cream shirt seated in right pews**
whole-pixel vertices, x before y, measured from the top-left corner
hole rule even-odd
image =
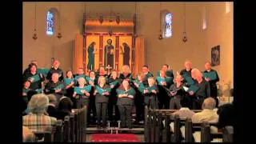
[[[194,114],[192,122],[218,122],[218,114],[214,110],[215,106],[214,98],[206,98],[202,103],[202,112]]]

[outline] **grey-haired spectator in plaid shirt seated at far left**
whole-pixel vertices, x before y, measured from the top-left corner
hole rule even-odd
[[[45,115],[49,99],[45,94],[34,94],[28,107],[30,114],[23,116],[23,126],[27,126],[32,132],[43,132],[49,127],[56,126],[57,119]]]

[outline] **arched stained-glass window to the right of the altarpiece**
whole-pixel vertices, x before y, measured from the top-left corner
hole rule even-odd
[[[162,10],[162,38],[170,38],[173,35],[173,14],[168,10]]]

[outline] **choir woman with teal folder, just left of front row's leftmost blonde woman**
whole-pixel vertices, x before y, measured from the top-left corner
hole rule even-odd
[[[73,73],[71,70],[66,71],[66,78],[64,78],[64,83],[66,86],[66,97],[70,98],[73,103],[76,103],[75,98],[73,97],[74,78],[73,78]],[[75,104],[73,106],[74,106],[74,108],[76,107]]]

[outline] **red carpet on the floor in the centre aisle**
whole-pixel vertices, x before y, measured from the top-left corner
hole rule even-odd
[[[135,134],[93,134],[91,142],[141,142]]]

